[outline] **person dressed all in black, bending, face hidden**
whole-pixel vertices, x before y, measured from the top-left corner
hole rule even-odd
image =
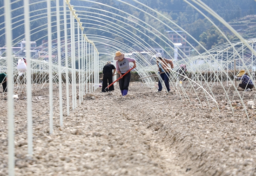
[[[112,72],[114,70],[114,72]],[[111,83],[113,83],[113,76],[115,74],[115,66],[111,64],[110,61],[106,63],[103,67],[103,79],[102,79],[102,92],[105,92],[105,88],[108,87]],[[108,87],[106,91],[114,91],[114,85]]]

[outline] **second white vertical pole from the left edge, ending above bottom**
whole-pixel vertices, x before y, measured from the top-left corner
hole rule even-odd
[[[25,40],[27,57],[27,152],[33,155],[33,120],[32,120],[32,92],[31,92],[31,53],[30,53],[30,22],[29,1],[24,0]]]

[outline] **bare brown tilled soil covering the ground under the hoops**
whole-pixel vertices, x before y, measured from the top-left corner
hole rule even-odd
[[[247,119],[234,90],[228,92],[229,97],[233,93],[229,105],[219,86],[212,88],[218,104],[208,102],[203,92],[195,96],[176,87],[169,93],[152,91],[141,83],[131,83],[129,88],[125,97],[117,85],[110,93],[97,89],[81,104],[77,99],[74,111],[70,97],[69,116],[63,91],[60,126],[55,85],[53,134],[49,134],[48,89],[33,91],[33,156],[27,155],[27,100],[20,92],[20,99],[14,100],[15,175],[256,175],[256,113],[247,109]],[[255,91],[240,93],[244,104],[254,100]],[[8,170],[6,104],[6,95],[1,94],[0,176]]]

